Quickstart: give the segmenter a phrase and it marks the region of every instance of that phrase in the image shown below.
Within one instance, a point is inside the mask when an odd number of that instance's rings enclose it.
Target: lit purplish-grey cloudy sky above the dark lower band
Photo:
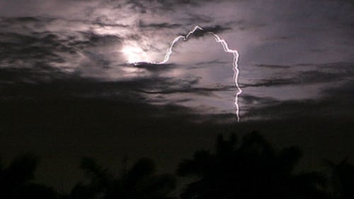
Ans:
[[[212,37],[178,43],[169,66],[127,64],[161,61],[174,37],[200,25],[241,54],[239,103],[247,115],[258,106],[318,100],[353,81],[353,15],[350,1],[0,1],[0,66],[62,73],[8,77],[9,84],[78,74],[130,83],[86,95],[126,93],[147,103],[231,113],[232,56]]]

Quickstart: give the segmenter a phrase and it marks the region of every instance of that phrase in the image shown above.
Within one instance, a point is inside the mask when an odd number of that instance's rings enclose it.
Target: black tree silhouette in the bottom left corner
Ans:
[[[38,159],[34,155],[21,155],[8,167],[0,162],[0,198],[56,198],[53,188],[33,183]]]

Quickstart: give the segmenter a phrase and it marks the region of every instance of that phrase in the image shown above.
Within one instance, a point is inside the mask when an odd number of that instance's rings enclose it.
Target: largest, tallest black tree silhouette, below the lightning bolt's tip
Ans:
[[[295,174],[297,147],[276,151],[256,132],[217,138],[215,152],[195,152],[178,166],[181,176],[197,176],[181,198],[326,198],[324,178],[314,172]]]

